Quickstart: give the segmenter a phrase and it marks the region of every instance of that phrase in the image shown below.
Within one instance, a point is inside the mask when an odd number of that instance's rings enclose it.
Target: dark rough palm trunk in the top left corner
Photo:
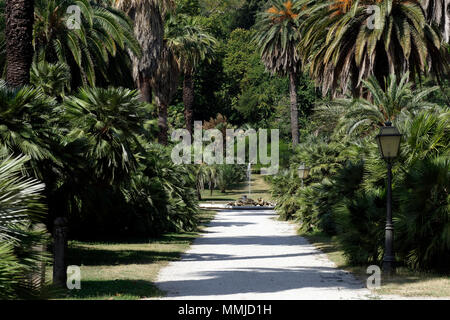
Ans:
[[[11,87],[30,82],[33,23],[34,0],[6,1],[6,82]]]

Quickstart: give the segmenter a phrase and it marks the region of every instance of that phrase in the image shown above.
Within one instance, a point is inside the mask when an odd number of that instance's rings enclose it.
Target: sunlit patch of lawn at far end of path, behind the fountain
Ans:
[[[264,181],[264,176],[260,174],[252,174],[250,187],[250,198],[254,200],[258,198],[263,198],[264,200],[272,199],[269,191],[270,186],[266,181]],[[213,194],[211,195],[209,190],[203,190],[202,201],[230,202],[241,198],[243,195],[248,196],[248,182],[237,184],[225,193],[220,192],[220,190],[213,190]]]

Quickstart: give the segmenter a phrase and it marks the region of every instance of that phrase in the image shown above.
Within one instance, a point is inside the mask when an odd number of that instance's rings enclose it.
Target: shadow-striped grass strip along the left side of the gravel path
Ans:
[[[202,225],[209,222],[214,211],[202,210]],[[197,232],[168,233],[158,239],[128,242],[72,241],[68,249],[68,265],[81,266],[81,289],[57,292],[56,299],[141,299],[160,297],[154,284],[159,270],[178,260]],[[51,278],[51,268],[48,268]]]

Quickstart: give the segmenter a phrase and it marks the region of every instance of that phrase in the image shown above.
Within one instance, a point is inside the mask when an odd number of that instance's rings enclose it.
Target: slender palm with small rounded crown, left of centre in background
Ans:
[[[202,61],[211,62],[216,39],[208,34],[196,17],[183,14],[170,17],[165,24],[167,46],[174,53],[184,74],[183,104],[186,129],[193,131],[193,104],[195,68]]]

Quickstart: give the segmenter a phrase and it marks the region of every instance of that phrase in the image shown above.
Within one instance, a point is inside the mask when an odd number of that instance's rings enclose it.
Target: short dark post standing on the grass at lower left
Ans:
[[[53,229],[53,283],[60,287],[65,287],[67,282],[66,247],[67,219],[58,217]]]

